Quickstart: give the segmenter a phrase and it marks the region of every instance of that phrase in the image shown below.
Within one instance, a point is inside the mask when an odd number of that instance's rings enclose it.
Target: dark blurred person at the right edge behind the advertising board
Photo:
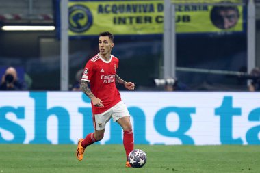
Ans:
[[[250,84],[248,85],[248,90],[250,92],[260,91],[260,68],[255,67],[250,72]]]

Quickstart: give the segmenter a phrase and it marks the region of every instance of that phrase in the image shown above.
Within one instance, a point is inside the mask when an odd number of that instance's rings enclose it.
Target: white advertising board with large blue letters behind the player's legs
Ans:
[[[252,92],[121,92],[135,144],[260,144],[260,94]],[[0,144],[77,144],[93,131],[82,92],[0,92]],[[98,144],[121,144],[108,122]]]

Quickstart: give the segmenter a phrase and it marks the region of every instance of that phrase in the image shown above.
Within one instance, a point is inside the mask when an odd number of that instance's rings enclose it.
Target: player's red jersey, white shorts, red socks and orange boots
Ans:
[[[124,116],[130,116],[125,104],[121,103],[120,105],[119,103],[121,101],[121,96],[118,92],[118,89],[116,88],[115,79],[117,68],[118,59],[113,55],[110,55],[109,61],[105,61],[105,59],[102,59],[102,57],[99,54],[97,54],[87,62],[81,80],[88,81],[90,83],[91,92],[94,94],[94,96],[96,96],[96,98],[101,99],[104,105],[104,107],[96,107],[91,102],[92,114],[101,114],[107,111],[108,109],[112,108],[113,106],[117,105],[118,103],[118,107],[115,107],[118,116],[120,116],[120,118]],[[116,114],[112,114],[114,113],[109,112],[106,116],[110,116],[112,118],[114,116],[114,118],[116,118]],[[101,125],[101,127],[105,128],[104,125],[106,124],[106,122],[103,121],[105,119],[102,119],[102,117],[99,118],[99,116],[106,118],[106,116],[103,114],[92,116],[95,130],[96,126],[99,127],[99,124]],[[98,119],[97,122],[96,119]],[[82,151],[82,149],[86,148],[87,146],[93,144],[96,141],[98,140],[96,140],[94,133],[89,133],[85,137],[85,139],[79,139],[78,148],[76,151],[77,158],[79,160],[82,160],[84,152],[84,150]],[[125,148],[126,157],[128,157],[129,153],[133,150],[132,129],[123,130],[123,144]],[[79,152],[80,150],[81,152]],[[79,155],[81,155],[81,157],[79,157]],[[126,163],[126,166],[129,167],[129,162]]]

